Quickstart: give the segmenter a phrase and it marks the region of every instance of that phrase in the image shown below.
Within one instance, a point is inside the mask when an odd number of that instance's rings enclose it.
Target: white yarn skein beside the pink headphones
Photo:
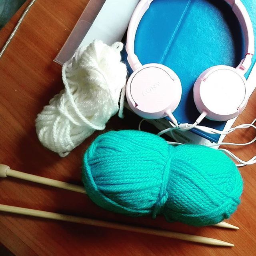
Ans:
[[[64,64],[65,89],[36,118],[36,132],[46,148],[65,157],[95,130],[104,130],[118,112],[127,76],[122,48],[121,42],[107,46],[95,40]]]

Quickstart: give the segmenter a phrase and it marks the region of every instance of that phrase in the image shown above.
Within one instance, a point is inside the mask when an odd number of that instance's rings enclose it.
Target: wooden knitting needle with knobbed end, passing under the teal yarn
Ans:
[[[28,180],[31,182],[35,182],[35,183],[39,183],[47,186],[52,186],[55,188],[62,188],[65,190],[86,194],[86,191],[82,186],[73,185],[73,184],[62,182],[59,180],[52,180],[49,178],[44,178],[44,177],[36,176],[33,174],[19,172],[16,170],[11,170],[9,166],[0,164],[0,178],[6,178],[7,176],[22,179],[22,180]],[[216,224],[214,226],[220,227],[220,228],[239,229],[238,227],[226,222],[220,222],[219,224]]]

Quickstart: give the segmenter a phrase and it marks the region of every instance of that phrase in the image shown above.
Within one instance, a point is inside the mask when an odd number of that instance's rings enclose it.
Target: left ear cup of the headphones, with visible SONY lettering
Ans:
[[[174,112],[180,103],[179,77],[162,64],[146,64],[128,79],[126,98],[132,110],[147,119],[160,119]]]

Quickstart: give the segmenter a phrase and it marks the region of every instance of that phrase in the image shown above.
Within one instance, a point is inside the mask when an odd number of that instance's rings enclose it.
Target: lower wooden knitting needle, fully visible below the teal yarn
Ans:
[[[151,228],[128,226],[128,225],[124,225],[124,224],[118,224],[118,223],[107,222],[107,221],[102,221],[102,220],[82,218],[82,217],[58,214],[58,213],[54,213],[54,212],[44,212],[44,211],[39,211],[39,210],[20,208],[20,207],[16,207],[16,206],[8,206],[8,205],[4,205],[4,204],[0,204],[0,212],[21,214],[21,215],[46,218],[46,219],[51,219],[51,220],[74,222],[74,223],[85,224],[85,225],[90,225],[90,226],[138,232],[138,233],[150,234],[150,235],[155,235],[155,236],[164,236],[164,237],[168,237],[168,238],[174,238],[174,239],[190,241],[190,242],[195,242],[195,243],[200,243],[200,244],[209,244],[209,245],[215,245],[215,246],[234,246],[234,244],[230,244],[228,242],[224,242],[224,241],[217,240],[214,238],[207,238],[207,237],[203,237],[203,236],[194,236],[194,235],[190,235],[190,234],[170,232],[170,231],[166,231],[166,230],[156,230],[156,229],[151,229]]]

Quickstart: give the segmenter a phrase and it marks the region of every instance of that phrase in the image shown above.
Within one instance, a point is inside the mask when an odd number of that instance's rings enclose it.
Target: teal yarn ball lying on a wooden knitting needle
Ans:
[[[84,154],[82,180],[98,206],[129,216],[193,226],[230,218],[240,204],[243,181],[219,150],[171,146],[154,134],[124,130],[96,138]]]

